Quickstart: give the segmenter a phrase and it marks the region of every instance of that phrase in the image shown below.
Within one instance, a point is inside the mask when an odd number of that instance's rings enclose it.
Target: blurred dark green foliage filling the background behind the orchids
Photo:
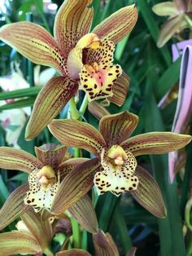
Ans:
[[[1,0],[0,3],[0,26],[3,24],[32,20],[37,24],[43,25],[51,33],[57,7],[63,0]],[[94,22],[93,27],[121,7],[134,3],[132,0],[94,0]],[[124,38],[116,46],[115,63],[120,64],[124,71],[131,78],[129,95],[121,108],[111,104],[107,109],[111,113],[119,113],[122,110],[129,110],[136,113],[139,118],[139,126],[134,134],[142,132],[159,130],[170,131],[176,109],[177,99],[172,99],[163,109],[158,108],[160,99],[176,86],[179,81],[179,71],[181,57],[172,62],[172,43],[178,42],[180,38],[189,39],[189,31],[185,29],[179,36],[172,38],[168,43],[158,48],[156,42],[159,36],[160,26],[167,19],[155,15],[151,8],[161,0],[137,0],[138,20],[133,32],[129,37]],[[32,15],[28,15],[31,12]],[[32,49],[33,51],[33,49]],[[180,53],[181,54],[181,53]],[[33,64],[28,63],[11,47],[1,42],[0,44],[0,76],[11,77],[11,63],[20,64],[20,71],[29,87],[26,89],[12,90],[0,94],[1,102],[8,99],[19,99],[9,101],[9,104],[1,104],[0,110],[17,109],[32,107],[33,102],[43,84],[34,86]],[[41,71],[45,67],[41,67]],[[9,90],[9,88],[7,88]],[[10,103],[11,102],[11,103]],[[63,109],[60,118],[67,117],[68,106]],[[7,110],[8,111],[8,110]],[[8,112],[7,112],[8,117]],[[33,141],[24,140],[24,129],[28,116],[22,124],[17,146],[25,151],[33,152],[34,145],[40,146],[42,143],[53,143],[56,140],[52,138],[50,132],[46,129]],[[89,123],[98,126],[98,120],[90,113],[86,114]],[[19,125],[17,125],[19,126]],[[17,126],[9,127],[13,131]],[[0,126],[0,144],[7,145],[5,126]],[[187,148],[188,158],[190,157],[191,145]],[[164,195],[164,201],[168,210],[168,217],[157,219],[136,201],[129,194],[124,194],[120,198],[106,193],[99,198],[93,193],[95,210],[98,216],[99,227],[104,232],[110,232],[113,236],[120,255],[125,255],[132,247],[137,247],[137,256],[139,255],[164,255],[164,256],[184,256],[185,248],[187,254],[192,255],[190,247],[192,244],[190,230],[185,225],[184,210],[185,204],[190,198],[190,170],[192,162],[187,161],[186,168],[183,166],[181,172],[177,174],[177,179],[172,184],[168,183],[168,157],[163,156],[144,156],[138,157],[140,165],[145,166],[155,175]],[[187,175],[187,176],[186,176]],[[0,206],[6,200],[10,192],[26,181],[26,175],[19,172],[6,172],[2,170],[0,175]],[[188,180],[185,183],[185,180]],[[12,230],[15,223],[6,228],[6,231]],[[89,249],[92,252],[93,245],[89,234],[81,231],[78,225],[72,225],[73,240],[79,248]],[[81,236],[80,236],[81,234]],[[63,236],[55,238],[55,245],[63,239]]]

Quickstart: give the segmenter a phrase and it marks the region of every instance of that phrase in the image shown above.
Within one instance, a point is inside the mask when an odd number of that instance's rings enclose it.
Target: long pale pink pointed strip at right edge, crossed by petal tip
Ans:
[[[172,124],[172,131],[177,133],[186,133],[192,116],[192,87],[191,74],[192,68],[192,46],[186,46],[181,61],[181,73],[179,84],[179,95],[177,101],[177,109]],[[173,181],[178,162],[178,152],[170,152],[168,154],[169,179]]]

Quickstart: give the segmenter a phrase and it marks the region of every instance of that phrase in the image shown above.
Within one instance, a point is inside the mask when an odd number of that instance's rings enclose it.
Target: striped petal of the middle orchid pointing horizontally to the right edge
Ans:
[[[146,154],[164,154],[176,151],[190,143],[190,135],[179,135],[172,132],[149,132],[134,136],[121,143],[125,152],[132,152],[134,156]]]

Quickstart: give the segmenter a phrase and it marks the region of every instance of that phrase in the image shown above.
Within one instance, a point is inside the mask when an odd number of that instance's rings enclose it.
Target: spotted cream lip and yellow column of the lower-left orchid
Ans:
[[[59,172],[50,166],[43,166],[41,170],[33,170],[28,176],[29,191],[24,198],[25,205],[32,205],[35,212],[51,209],[56,192],[59,188]]]

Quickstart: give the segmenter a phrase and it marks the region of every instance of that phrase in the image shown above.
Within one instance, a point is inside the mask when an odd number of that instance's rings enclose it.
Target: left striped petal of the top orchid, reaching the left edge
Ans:
[[[7,24],[0,29],[0,39],[33,63],[66,73],[63,54],[43,27],[28,21]]]

